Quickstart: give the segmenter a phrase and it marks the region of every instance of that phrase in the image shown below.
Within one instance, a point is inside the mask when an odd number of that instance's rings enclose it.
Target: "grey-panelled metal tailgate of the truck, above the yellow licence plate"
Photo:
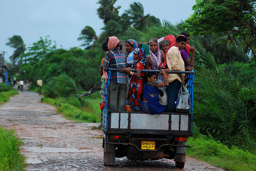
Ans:
[[[108,112],[108,116],[103,125],[107,133],[192,135],[192,115],[189,113]]]

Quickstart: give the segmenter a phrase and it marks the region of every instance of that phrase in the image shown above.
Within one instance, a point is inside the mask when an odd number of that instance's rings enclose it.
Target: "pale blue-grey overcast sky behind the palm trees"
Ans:
[[[49,35],[56,41],[57,48],[79,47],[81,30],[91,26],[99,35],[103,20],[97,15],[98,0],[0,0],[0,53],[6,51],[5,59],[13,54],[14,48],[6,46],[8,38],[22,37],[26,47]],[[195,0],[117,0],[114,6],[121,6],[119,16],[133,2],[140,2],[144,15],[150,14],[173,24],[193,14]],[[132,37],[131,37],[132,38]],[[9,61],[9,59],[7,59]]]

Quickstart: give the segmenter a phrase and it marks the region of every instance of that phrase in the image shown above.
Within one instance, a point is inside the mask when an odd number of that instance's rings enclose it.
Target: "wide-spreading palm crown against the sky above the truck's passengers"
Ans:
[[[126,10],[127,14],[131,17],[133,27],[142,30],[148,26],[156,26],[160,24],[160,20],[150,14],[144,16],[144,8],[140,2],[130,4],[130,9]]]

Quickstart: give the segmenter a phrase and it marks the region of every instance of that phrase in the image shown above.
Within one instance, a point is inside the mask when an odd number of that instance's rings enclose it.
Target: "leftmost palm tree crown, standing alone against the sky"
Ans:
[[[26,50],[26,45],[24,44],[20,36],[14,35],[11,38],[8,38],[9,42],[6,45],[15,48],[14,54],[10,56],[11,62],[14,64],[17,60],[22,61],[23,54]]]

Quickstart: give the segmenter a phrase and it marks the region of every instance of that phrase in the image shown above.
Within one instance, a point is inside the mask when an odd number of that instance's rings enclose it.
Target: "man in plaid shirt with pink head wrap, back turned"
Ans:
[[[117,37],[112,36],[108,39],[108,50],[103,62],[104,71],[108,72],[108,68],[124,68],[126,67],[126,54],[119,50],[120,41]],[[109,88],[109,110],[125,111],[126,108],[126,84],[127,73],[111,71],[111,79]]]

